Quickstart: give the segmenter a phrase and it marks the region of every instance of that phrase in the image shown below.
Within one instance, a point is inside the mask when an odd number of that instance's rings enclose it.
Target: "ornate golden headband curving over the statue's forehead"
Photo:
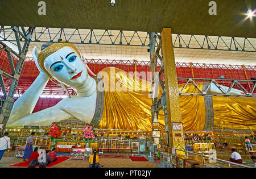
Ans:
[[[58,51],[59,49],[63,48],[63,47],[71,47],[72,49],[74,49],[76,51],[76,53],[80,56],[81,55],[79,53],[79,51],[77,50],[77,48],[75,47],[75,45],[70,44],[70,43],[53,43],[51,45],[49,45],[48,47],[44,48],[39,54],[38,54],[38,64],[39,66],[44,70],[44,72],[46,72],[48,74],[49,77],[52,77],[51,74],[49,74],[46,70],[46,68],[44,67],[44,60],[46,60],[46,58],[51,55],[52,53]]]

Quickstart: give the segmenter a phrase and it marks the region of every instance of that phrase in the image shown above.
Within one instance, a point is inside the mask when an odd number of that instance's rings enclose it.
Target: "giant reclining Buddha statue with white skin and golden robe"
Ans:
[[[44,44],[40,53],[35,47],[32,54],[39,76],[14,103],[7,124],[48,126],[61,120],[79,119],[97,128],[151,130],[150,82],[130,77],[118,68],[105,68],[96,76],[75,45],[69,43]],[[74,89],[77,95],[32,113],[50,79]],[[205,84],[197,85],[204,87]],[[133,90],[135,88],[139,90]],[[195,90],[193,85],[184,89],[189,93]],[[220,93],[216,86],[210,86],[209,90]],[[230,91],[233,94],[241,92]],[[256,127],[255,98],[180,96],[180,106],[185,130],[204,130],[223,123],[234,128]],[[164,130],[163,113],[159,113],[158,120],[160,129]]]

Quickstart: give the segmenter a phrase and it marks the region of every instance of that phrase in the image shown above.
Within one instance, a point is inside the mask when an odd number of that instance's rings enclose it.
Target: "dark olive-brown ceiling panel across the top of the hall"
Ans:
[[[61,0],[46,2],[46,15],[38,14],[35,0],[0,0],[0,25],[111,29],[174,34],[256,38],[255,23],[246,18],[255,0],[215,0],[217,15],[209,15],[210,0]],[[255,17],[254,17],[255,20]]]

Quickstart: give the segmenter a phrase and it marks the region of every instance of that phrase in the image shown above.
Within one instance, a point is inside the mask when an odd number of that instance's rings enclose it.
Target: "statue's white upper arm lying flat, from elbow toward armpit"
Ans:
[[[71,118],[73,118],[72,115],[69,115],[55,105],[42,111],[24,116],[23,118],[16,120],[12,125],[50,125],[52,122]]]

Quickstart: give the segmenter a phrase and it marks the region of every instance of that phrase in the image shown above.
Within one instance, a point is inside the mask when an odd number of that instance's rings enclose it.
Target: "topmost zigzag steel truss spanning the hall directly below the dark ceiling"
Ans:
[[[25,30],[22,29],[22,31]],[[24,41],[25,38],[22,32],[19,30],[17,30],[17,32],[19,34],[20,41]],[[150,34],[151,32],[138,33],[138,31],[122,30],[82,30],[37,27],[31,41],[42,43],[60,43],[61,40],[64,40],[65,43],[73,44],[130,45],[150,47],[151,43],[148,41]],[[182,34],[172,34],[172,38],[175,39],[173,43],[174,48],[256,52],[256,39]],[[15,41],[12,29],[2,26],[0,29],[0,40],[1,39],[10,42]],[[159,39],[156,39],[156,46],[158,45]]]

